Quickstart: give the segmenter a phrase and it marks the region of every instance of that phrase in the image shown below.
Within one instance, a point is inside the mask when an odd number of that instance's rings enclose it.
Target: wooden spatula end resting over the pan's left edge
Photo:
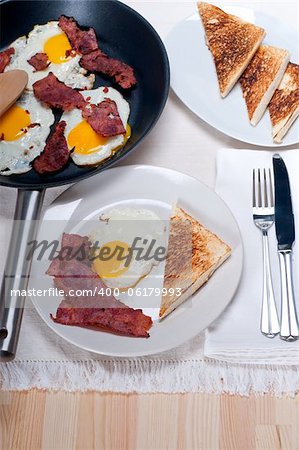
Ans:
[[[28,83],[25,70],[10,70],[0,73],[0,117],[13,105]]]

